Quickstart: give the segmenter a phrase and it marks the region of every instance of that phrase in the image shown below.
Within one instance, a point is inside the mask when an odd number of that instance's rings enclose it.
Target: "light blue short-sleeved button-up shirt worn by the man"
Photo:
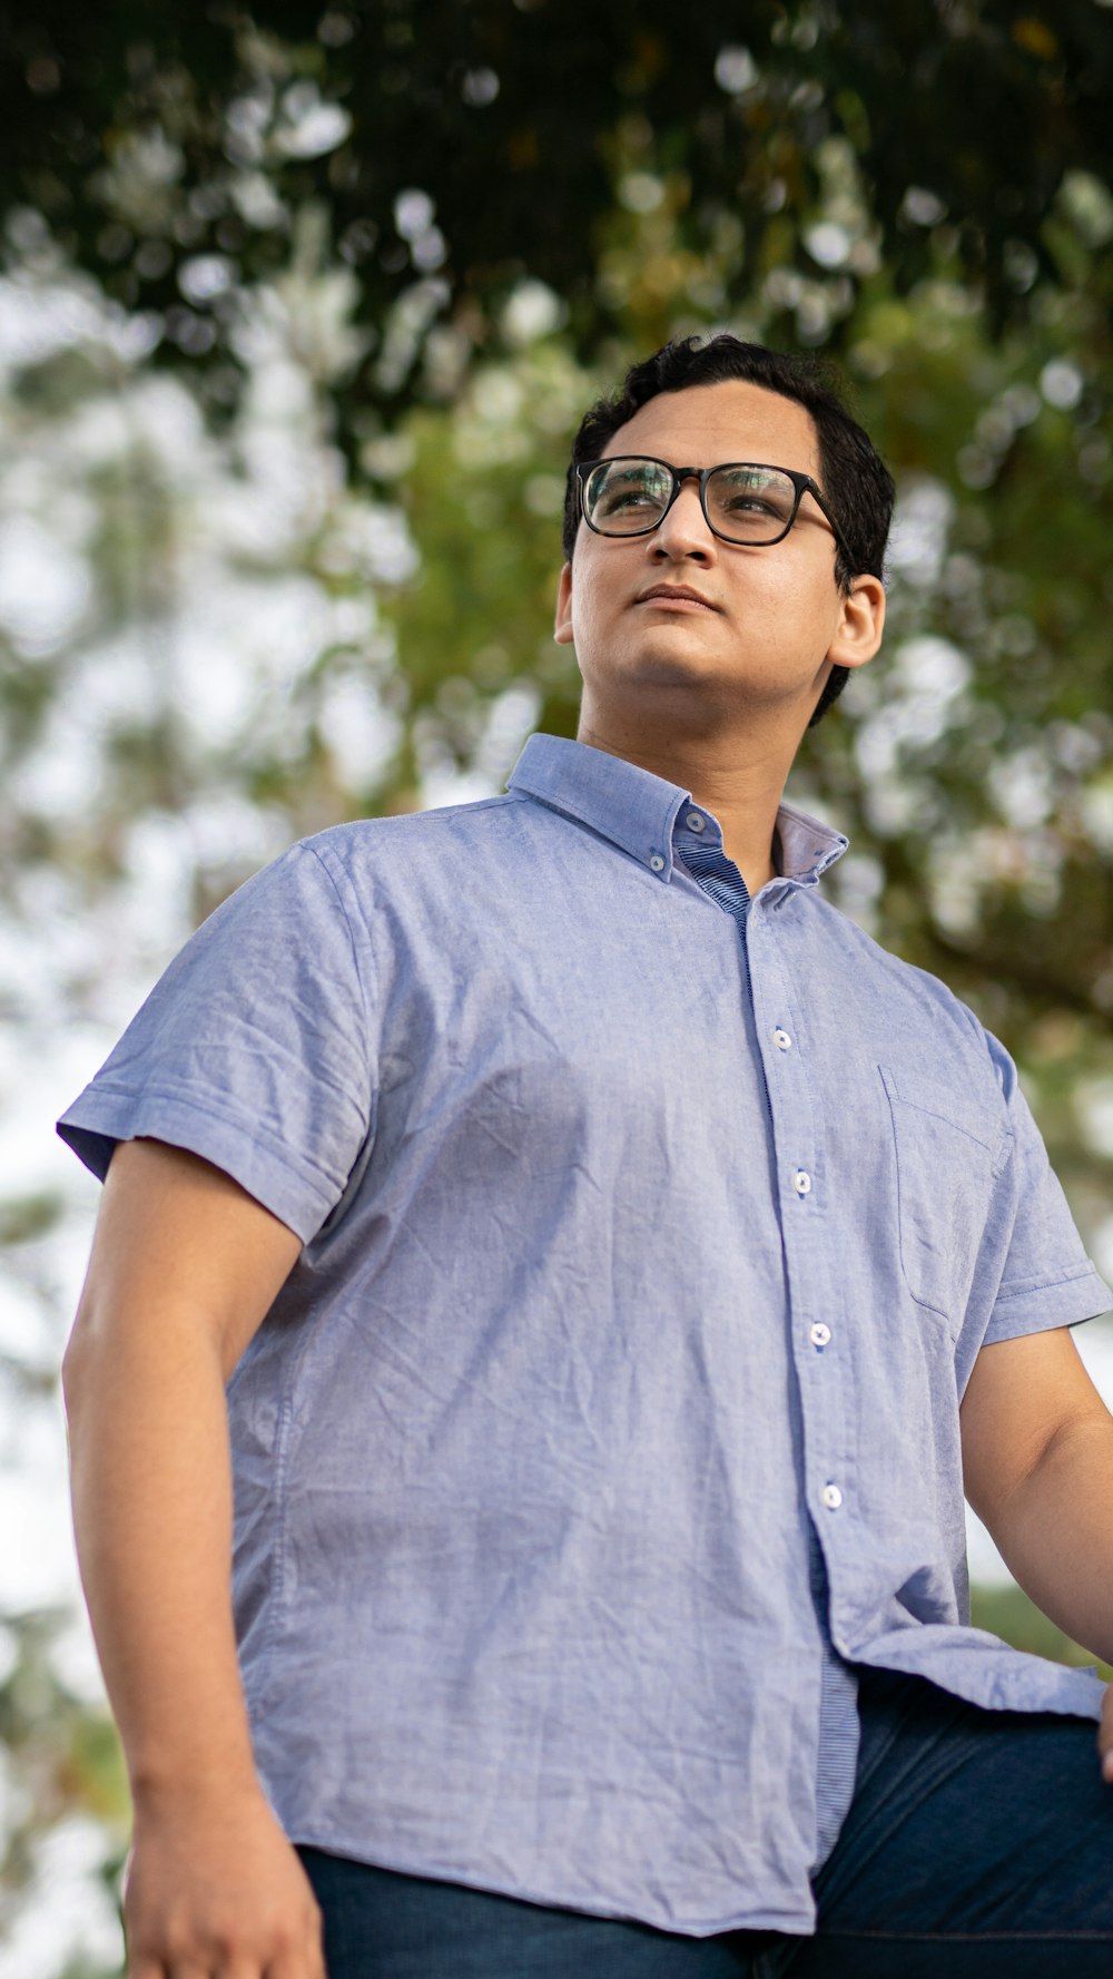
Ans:
[[[192,1148],[304,1241],[229,1385],[289,1835],[809,1932],[832,1652],[1097,1712],[967,1627],[959,1399],[1109,1298],[1006,1053],[822,900],[844,839],[781,809],[741,944],[682,811],[536,736],[504,798],[295,847],[61,1132]]]

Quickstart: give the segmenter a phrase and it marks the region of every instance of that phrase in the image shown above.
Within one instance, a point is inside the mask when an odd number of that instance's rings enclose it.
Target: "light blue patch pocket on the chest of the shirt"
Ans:
[[[878,1071],[892,1114],[905,1284],[957,1334],[1012,1134],[992,1104],[979,1106],[961,1086]]]

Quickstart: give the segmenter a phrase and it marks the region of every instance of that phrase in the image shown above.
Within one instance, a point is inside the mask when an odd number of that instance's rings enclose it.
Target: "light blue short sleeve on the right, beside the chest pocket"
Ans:
[[[994,1037],[988,1045],[1012,1132],[1012,1227],[986,1342],[1073,1326],[1113,1306],[1113,1292],[1085,1255],[1016,1067]]]

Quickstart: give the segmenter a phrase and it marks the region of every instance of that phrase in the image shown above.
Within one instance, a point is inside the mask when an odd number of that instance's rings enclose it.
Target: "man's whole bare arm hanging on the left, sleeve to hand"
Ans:
[[[299,1239],[160,1142],[113,1156],[63,1364],[81,1577],[134,1799],[128,1973],[324,1979],[255,1775],[231,1623],[223,1383]]]

